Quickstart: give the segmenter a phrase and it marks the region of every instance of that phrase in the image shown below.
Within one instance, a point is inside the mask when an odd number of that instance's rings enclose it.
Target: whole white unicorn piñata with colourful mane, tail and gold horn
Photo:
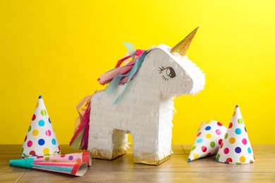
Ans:
[[[93,158],[114,159],[126,153],[133,137],[135,163],[159,165],[170,158],[173,96],[197,94],[204,73],[185,56],[197,29],[172,49],[161,44],[146,51],[126,44],[130,55],[99,77],[109,84],[80,102],[86,108],[76,122],[70,145]],[[133,60],[121,66],[128,61]]]

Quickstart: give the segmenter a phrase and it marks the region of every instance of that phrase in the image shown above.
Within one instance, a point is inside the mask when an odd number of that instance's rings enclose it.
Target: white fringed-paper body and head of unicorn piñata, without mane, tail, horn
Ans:
[[[87,150],[94,158],[126,153],[128,133],[135,163],[158,165],[170,157],[173,96],[197,94],[205,84],[195,63],[170,51],[163,44],[151,49],[117,105],[113,102],[124,85],[111,95],[104,91],[92,95]]]

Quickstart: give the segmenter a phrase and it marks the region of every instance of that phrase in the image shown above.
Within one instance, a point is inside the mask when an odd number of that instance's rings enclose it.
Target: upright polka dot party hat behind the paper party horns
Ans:
[[[21,153],[23,158],[41,158],[61,153],[42,96],[37,101]]]

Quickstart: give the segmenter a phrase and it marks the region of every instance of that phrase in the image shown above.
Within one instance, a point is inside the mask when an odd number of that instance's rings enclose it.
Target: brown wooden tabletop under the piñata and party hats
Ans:
[[[0,182],[275,182],[275,145],[254,145],[256,162],[227,165],[215,156],[187,162],[190,145],[173,145],[173,155],[165,163],[133,163],[133,151],[114,160],[92,160],[82,177],[54,172],[10,167],[8,160],[20,158],[20,145],[0,145]],[[73,153],[67,145],[62,153]]]

